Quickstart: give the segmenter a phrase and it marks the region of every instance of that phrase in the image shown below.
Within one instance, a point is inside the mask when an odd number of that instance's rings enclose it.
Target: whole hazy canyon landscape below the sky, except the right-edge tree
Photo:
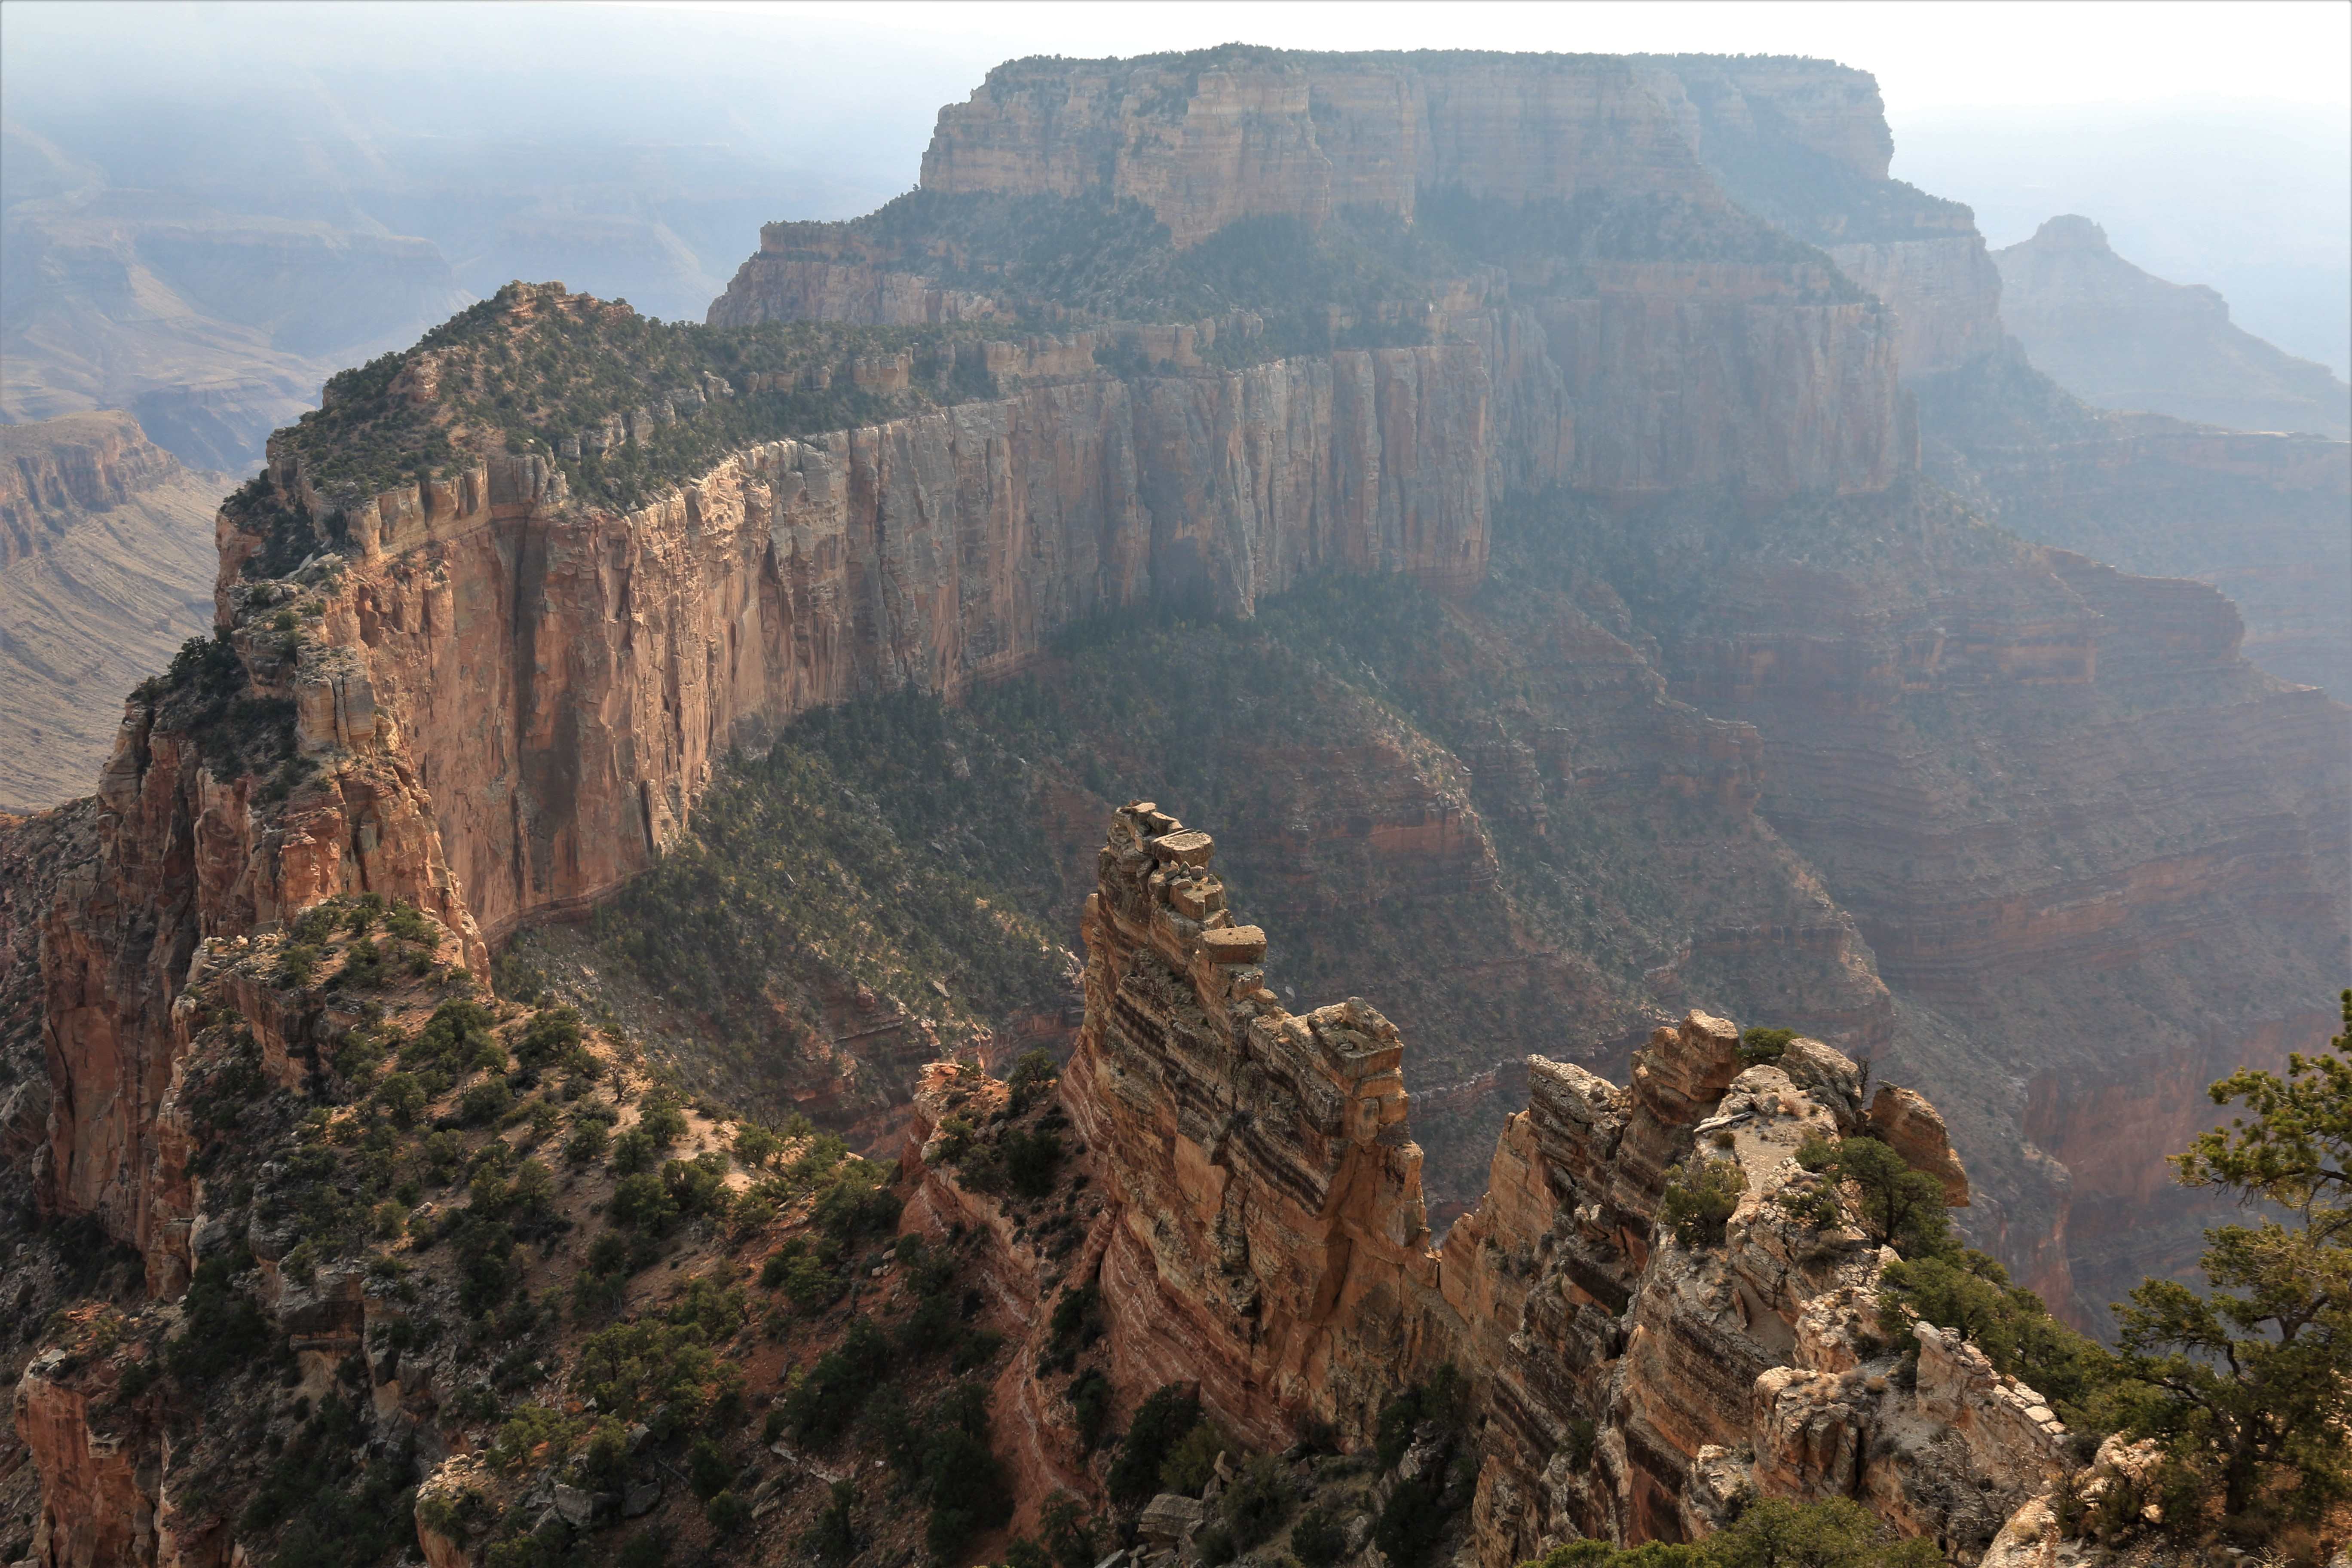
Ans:
[[[2343,1027],[2328,367],[1792,54],[320,125],[7,132],[0,1561],[2336,1540],[2129,1359]]]

